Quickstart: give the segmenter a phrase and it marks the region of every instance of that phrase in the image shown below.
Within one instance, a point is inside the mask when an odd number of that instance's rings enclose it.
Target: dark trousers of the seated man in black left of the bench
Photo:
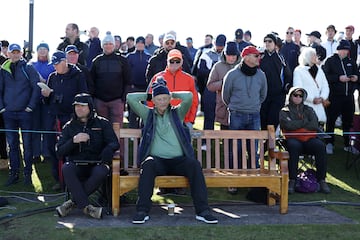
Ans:
[[[83,209],[90,204],[88,196],[104,183],[109,167],[105,164],[83,166],[66,162],[62,166],[62,173],[72,201],[79,209]]]

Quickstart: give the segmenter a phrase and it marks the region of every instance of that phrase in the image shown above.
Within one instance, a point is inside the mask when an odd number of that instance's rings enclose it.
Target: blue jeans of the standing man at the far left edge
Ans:
[[[5,111],[3,113],[5,122],[6,138],[9,144],[10,157],[10,174],[19,173],[20,171],[20,136],[19,129],[21,129],[21,137],[24,149],[24,174],[31,175],[32,172],[32,113],[19,111]],[[23,131],[25,130],[25,131]]]

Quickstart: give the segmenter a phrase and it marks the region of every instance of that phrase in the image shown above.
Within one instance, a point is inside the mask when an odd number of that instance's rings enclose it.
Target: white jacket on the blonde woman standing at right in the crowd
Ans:
[[[293,86],[304,88],[307,91],[308,96],[304,103],[314,109],[319,122],[326,122],[324,106],[321,103],[314,104],[313,100],[317,97],[327,99],[329,97],[329,84],[321,67],[318,66],[315,79],[311,76],[309,68],[309,66],[297,66],[295,68]]]

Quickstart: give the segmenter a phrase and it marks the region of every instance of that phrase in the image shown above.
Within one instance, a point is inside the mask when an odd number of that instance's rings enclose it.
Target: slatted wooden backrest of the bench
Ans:
[[[124,142],[124,153],[122,168],[137,168],[136,156],[139,148],[141,130],[140,129],[120,129],[120,139]],[[237,141],[241,140],[241,141]],[[268,164],[265,165],[265,144],[267,149],[275,148],[275,130],[269,126],[268,130],[194,130],[192,131],[192,141],[195,157],[201,163],[203,169],[229,169],[230,152],[238,152],[238,142],[242,149],[241,154],[232,154],[233,168],[255,169],[256,161],[259,159],[261,169],[276,169],[276,159],[268,156]],[[202,150],[203,141],[206,142],[206,150]],[[258,146],[255,154],[255,145]],[[250,153],[250,154],[248,154]],[[239,160],[239,161],[238,161]]]

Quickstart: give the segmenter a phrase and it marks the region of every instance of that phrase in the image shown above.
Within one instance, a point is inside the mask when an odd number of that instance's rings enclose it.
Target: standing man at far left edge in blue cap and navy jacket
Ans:
[[[0,113],[3,114],[7,142],[9,144],[10,171],[5,186],[19,181],[20,136],[24,149],[24,184],[32,185],[32,112],[40,99],[37,83],[39,74],[32,65],[22,58],[19,44],[10,44],[9,59],[1,66],[0,72]]]

